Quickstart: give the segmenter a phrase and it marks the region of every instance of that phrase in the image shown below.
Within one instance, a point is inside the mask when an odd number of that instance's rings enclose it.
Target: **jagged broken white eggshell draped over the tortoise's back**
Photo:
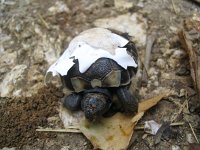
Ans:
[[[115,60],[120,66],[137,67],[137,62],[121,48],[128,40],[104,28],[92,28],[75,37],[63,55],[48,69],[47,73],[67,75],[74,65],[73,60],[78,59],[79,70],[85,72],[97,59],[105,57]]]

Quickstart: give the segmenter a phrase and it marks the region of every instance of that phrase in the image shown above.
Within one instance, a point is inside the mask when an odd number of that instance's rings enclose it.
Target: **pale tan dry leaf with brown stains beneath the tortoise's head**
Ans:
[[[83,120],[80,130],[91,141],[95,149],[125,149],[133,133],[134,124],[131,119],[131,117],[117,113],[97,123]]]

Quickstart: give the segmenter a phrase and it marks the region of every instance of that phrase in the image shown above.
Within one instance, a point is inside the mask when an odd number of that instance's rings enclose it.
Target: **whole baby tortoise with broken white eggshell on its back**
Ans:
[[[56,71],[63,85],[72,91],[64,98],[67,109],[84,111],[90,121],[117,111],[137,111],[138,101],[129,92],[137,72],[133,42],[107,29],[93,28],[75,37],[66,51],[48,72]],[[70,67],[65,67],[67,59],[73,62]],[[114,95],[118,101],[113,100]]]

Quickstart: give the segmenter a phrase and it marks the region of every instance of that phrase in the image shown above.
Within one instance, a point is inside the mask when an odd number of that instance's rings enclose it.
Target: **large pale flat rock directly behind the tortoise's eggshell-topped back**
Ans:
[[[97,27],[110,28],[134,37],[140,46],[146,44],[147,20],[140,14],[124,14],[118,17],[98,19],[94,22]]]

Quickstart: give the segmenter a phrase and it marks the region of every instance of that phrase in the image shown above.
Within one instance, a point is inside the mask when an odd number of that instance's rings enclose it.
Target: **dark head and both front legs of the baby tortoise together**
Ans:
[[[64,106],[72,111],[82,109],[90,121],[95,121],[100,116],[112,116],[118,111],[126,114],[137,112],[138,101],[130,94],[128,86],[109,88],[109,90],[94,88],[81,93],[72,93],[64,98]],[[112,94],[117,95],[120,108],[116,108],[116,104],[112,102]]]

